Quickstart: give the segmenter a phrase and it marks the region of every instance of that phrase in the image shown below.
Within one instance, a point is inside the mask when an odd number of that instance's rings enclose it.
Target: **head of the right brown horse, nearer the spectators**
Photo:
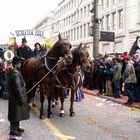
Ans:
[[[85,70],[89,71],[91,68],[91,62],[89,59],[89,53],[86,50],[86,45],[82,46],[82,43],[75,49],[73,57],[79,61],[79,64],[84,67]]]

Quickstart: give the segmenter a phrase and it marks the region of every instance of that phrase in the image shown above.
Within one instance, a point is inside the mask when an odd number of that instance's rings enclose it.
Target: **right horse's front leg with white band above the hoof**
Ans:
[[[61,108],[60,108],[60,117],[64,117],[65,116],[65,111],[64,111],[64,89],[61,88],[60,89],[60,101],[61,101]]]

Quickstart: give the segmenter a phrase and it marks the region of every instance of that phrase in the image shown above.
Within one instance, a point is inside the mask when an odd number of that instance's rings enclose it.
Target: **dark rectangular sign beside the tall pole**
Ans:
[[[100,31],[100,41],[115,41],[115,33],[114,32],[107,32],[107,31]]]

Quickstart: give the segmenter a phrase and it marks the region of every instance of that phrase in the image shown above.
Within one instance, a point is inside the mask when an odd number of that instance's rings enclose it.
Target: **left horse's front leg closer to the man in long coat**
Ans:
[[[40,107],[40,119],[44,119],[45,118],[45,114],[44,114],[44,108],[43,108],[43,104],[44,104],[44,88],[42,86],[40,86],[40,103],[41,103],[41,107]]]

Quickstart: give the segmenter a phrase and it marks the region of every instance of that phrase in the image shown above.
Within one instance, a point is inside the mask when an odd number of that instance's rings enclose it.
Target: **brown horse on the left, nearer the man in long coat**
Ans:
[[[42,58],[29,58],[23,63],[23,77],[25,79],[27,90],[29,90],[33,83],[37,83],[42,77],[44,77],[48,72],[49,75],[45,77],[40,83],[40,102],[41,102],[41,108],[40,108],[40,118],[44,118],[44,109],[43,109],[43,103],[44,103],[44,94],[47,91],[48,96],[48,117],[51,115],[51,107],[49,106],[54,93],[54,87],[55,87],[55,74],[54,70],[52,68],[58,63],[58,60],[60,57],[62,57],[66,64],[69,64],[72,62],[73,56],[71,53],[71,44],[65,40],[62,39],[61,35],[59,34],[58,41],[53,45],[53,47],[49,50],[47,55],[45,55]],[[32,91],[33,94],[35,94],[35,89]],[[32,97],[32,93],[30,92],[28,95],[29,100]],[[34,96],[34,95],[33,95]]]

